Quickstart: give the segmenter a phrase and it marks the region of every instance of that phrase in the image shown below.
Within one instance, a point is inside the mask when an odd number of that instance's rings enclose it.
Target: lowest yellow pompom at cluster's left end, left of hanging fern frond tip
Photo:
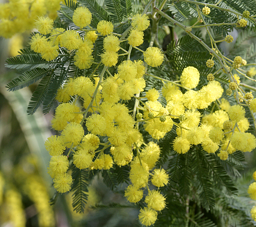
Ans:
[[[71,189],[72,176],[68,173],[59,174],[53,179],[53,187],[60,193],[65,193]]]

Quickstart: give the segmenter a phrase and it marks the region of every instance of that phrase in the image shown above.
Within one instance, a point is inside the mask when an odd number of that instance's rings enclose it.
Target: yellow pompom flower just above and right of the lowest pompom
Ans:
[[[145,203],[148,207],[161,211],[165,208],[165,197],[160,194],[159,191],[152,190],[148,192],[148,195],[145,197]]]

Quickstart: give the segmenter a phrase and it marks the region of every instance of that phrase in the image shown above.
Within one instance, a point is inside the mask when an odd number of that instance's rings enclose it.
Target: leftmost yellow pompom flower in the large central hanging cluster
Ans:
[[[61,137],[59,136],[50,136],[45,142],[45,147],[51,156],[62,155],[66,149]]]

